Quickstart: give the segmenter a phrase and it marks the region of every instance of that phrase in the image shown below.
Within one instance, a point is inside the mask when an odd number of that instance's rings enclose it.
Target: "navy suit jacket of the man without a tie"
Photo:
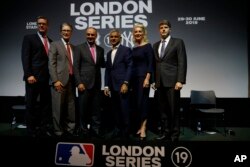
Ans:
[[[105,70],[105,86],[119,91],[124,81],[130,81],[132,72],[131,49],[120,45],[112,64],[111,51],[107,53],[107,62]]]

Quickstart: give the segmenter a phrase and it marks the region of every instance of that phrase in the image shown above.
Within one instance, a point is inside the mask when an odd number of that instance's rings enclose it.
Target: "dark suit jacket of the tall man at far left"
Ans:
[[[48,38],[49,42],[52,42]],[[27,81],[30,76],[35,76],[38,81],[48,81],[48,55],[38,34],[26,35],[22,43],[22,64],[24,76]]]

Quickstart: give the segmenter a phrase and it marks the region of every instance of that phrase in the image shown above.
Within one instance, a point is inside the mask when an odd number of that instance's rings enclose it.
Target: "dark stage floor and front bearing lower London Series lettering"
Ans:
[[[25,128],[0,123],[1,162],[5,166],[77,166],[69,164],[71,149],[75,146],[84,148],[85,152],[79,154],[88,154],[91,163],[87,166],[94,167],[235,166],[245,160],[241,156],[250,156],[250,128],[243,127],[228,127],[226,135],[218,132],[196,135],[192,129],[183,127],[178,142],[156,141],[157,135],[152,131],[147,132],[145,141],[133,135],[128,140],[115,139],[110,133],[104,134],[102,139],[83,136],[34,138],[26,136],[25,131]],[[82,161],[80,166],[86,166],[84,159]],[[247,167],[249,160],[240,165]]]

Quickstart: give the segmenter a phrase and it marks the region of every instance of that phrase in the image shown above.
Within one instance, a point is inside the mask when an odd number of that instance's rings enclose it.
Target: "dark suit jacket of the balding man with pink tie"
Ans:
[[[76,85],[83,83],[87,89],[96,86],[101,89],[101,68],[105,67],[104,49],[96,45],[96,63],[93,61],[87,42],[77,46],[74,62]]]

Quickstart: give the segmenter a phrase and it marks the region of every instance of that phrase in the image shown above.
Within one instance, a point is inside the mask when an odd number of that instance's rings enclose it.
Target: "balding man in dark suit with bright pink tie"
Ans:
[[[105,67],[104,49],[96,44],[97,30],[86,29],[87,41],[78,45],[74,75],[78,88],[79,127],[83,133],[91,128],[92,135],[100,136],[101,124],[101,68]]]

